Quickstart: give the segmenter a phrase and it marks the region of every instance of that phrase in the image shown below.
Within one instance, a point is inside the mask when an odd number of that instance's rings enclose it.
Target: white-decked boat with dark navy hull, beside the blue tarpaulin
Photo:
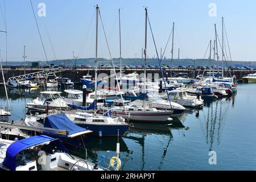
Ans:
[[[76,125],[93,131],[93,135],[104,136],[122,136],[129,129],[130,124],[125,122],[122,117],[110,117],[103,115],[94,115],[90,113],[67,114]]]

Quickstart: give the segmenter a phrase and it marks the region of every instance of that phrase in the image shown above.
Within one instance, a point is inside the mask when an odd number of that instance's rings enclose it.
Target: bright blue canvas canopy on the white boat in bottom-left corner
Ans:
[[[63,152],[68,153],[67,149],[65,148],[64,144],[61,142],[60,139],[54,139],[51,137],[47,137],[45,135],[38,135],[35,137],[18,140],[17,142],[10,144],[10,146],[7,148],[7,151],[6,151],[6,157],[5,157],[5,160],[3,161],[3,166],[8,167],[11,171],[15,171],[16,156],[19,154],[19,152],[27,148],[30,148],[32,146],[36,146],[44,142],[51,142],[53,140]]]

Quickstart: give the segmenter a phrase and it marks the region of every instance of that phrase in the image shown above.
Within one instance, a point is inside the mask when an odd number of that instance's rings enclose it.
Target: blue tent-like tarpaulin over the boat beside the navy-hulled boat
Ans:
[[[77,126],[65,114],[49,115],[48,117],[46,117],[46,119],[44,119],[44,127],[49,127],[51,129],[57,130],[67,130],[68,135],[72,135],[82,131],[88,131],[80,126]],[[68,135],[56,134],[57,137],[68,137]]]

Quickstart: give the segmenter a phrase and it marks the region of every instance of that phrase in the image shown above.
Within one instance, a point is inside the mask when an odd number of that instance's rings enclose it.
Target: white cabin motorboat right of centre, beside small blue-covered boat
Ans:
[[[204,100],[201,99],[201,96],[197,98],[196,96],[189,96],[185,90],[171,90],[168,91],[168,96],[170,101],[176,102],[182,106],[187,107],[199,107],[204,104]],[[160,96],[164,100],[168,100],[167,93]]]

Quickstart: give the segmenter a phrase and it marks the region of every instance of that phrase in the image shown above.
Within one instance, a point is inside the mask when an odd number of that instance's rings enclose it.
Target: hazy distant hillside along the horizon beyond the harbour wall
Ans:
[[[72,59],[67,59],[67,60],[52,60],[48,61],[49,64],[55,64],[55,65],[67,65],[67,66],[72,66],[75,65],[75,62],[77,65],[95,65],[95,59],[94,58],[87,58],[87,59],[77,59],[77,61],[72,60]],[[38,61],[39,65],[47,65],[46,61]],[[119,65],[119,59],[114,59],[114,64]],[[228,66],[237,66],[237,67],[248,67],[251,65],[251,68],[256,68],[256,61],[227,61],[226,62]],[[31,65],[32,62],[26,62],[26,65]],[[111,60],[108,59],[98,59],[98,64],[112,64]],[[143,65],[144,60],[142,59],[122,59],[122,64],[125,65]],[[165,59],[162,60],[162,64],[166,65],[171,65],[171,60],[170,59]],[[174,67],[177,67],[179,65],[187,66],[187,65],[193,65],[194,61],[193,59],[174,59],[173,65]],[[217,65],[217,61],[212,61],[212,64]],[[3,65],[6,65],[5,62],[3,62]],[[12,61],[12,62],[7,62],[7,65],[24,65],[23,62],[20,61]],[[147,59],[147,65],[152,65],[156,66],[158,65],[158,60],[157,59]],[[195,65],[197,66],[204,66],[207,67],[209,66],[209,60],[208,59],[196,59]],[[222,61],[219,61],[219,66],[222,67]],[[227,65],[225,64],[225,67]]]

